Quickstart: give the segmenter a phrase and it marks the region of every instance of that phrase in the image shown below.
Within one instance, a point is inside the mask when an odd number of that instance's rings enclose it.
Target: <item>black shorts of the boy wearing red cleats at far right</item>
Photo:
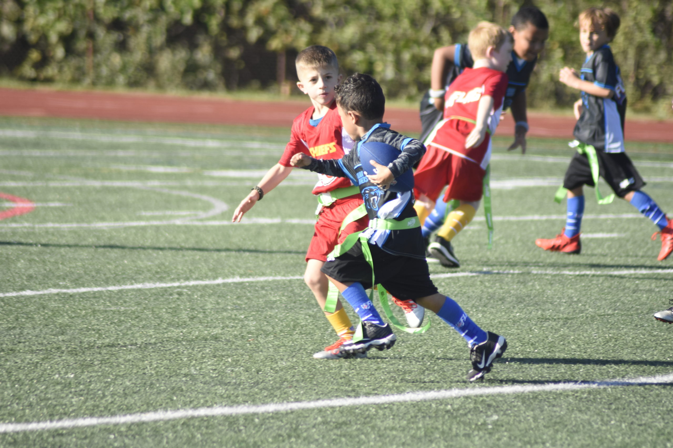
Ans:
[[[596,156],[598,156],[598,174],[619,197],[624,197],[629,191],[636,191],[645,186],[643,178],[640,177],[625,152],[603,152],[597,149]],[[575,152],[565,171],[563,187],[571,190],[582,185],[596,186],[587,156]]]

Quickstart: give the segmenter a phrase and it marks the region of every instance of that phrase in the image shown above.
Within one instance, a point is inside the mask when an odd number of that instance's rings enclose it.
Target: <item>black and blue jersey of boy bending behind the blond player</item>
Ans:
[[[528,62],[519,58],[519,56],[516,55],[516,52],[512,50],[511,62],[509,62],[507,71],[505,72],[507,73],[507,79],[509,81],[507,83],[507,91],[505,92],[503,110],[509,108],[516,95],[526,90],[528,81],[530,81],[530,75],[533,73],[537,60],[538,59],[535,58]],[[456,44],[454,48],[454,64],[446,76],[444,86],[448,87],[464,69],[472,68],[473,65],[474,59],[472,59],[472,53],[468,46],[466,44]],[[442,118],[444,118],[443,112],[435,108],[433,98],[426,92],[421,100],[421,125],[423,128],[421,136],[419,137],[421,142],[425,141],[425,138],[430,134],[432,128],[434,128],[435,124]]]

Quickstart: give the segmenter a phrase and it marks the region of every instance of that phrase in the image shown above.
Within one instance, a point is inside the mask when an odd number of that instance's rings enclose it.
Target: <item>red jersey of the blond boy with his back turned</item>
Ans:
[[[444,121],[434,135],[431,145],[479,165],[488,165],[487,156],[491,136],[495,132],[503,110],[507,92],[507,75],[501,71],[481,67],[465,69],[451,85],[444,97]],[[465,149],[465,138],[474,129],[479,100],[483,95],[493,97],[493,110],[488,119],[488,132],[478,148]],[[483,166],[485,169],[485,166]]]

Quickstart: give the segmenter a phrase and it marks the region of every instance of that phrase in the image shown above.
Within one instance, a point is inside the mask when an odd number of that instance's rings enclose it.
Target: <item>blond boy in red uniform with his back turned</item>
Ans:
[[[500,121],[507,91],[505,70],[511,61],[511,34],[487,21],[470,32],[468,47],[474,58],[451,83],[445,95],[444,120],[426,140],[427,152],[414,175],[416,204],[421,220],[448,185],[444,201],[460,206],[447,217],[429,250],[446,267],[458,267],[451,240],[472,221],[483,194],[483,178],[491,159],[491,137]]]

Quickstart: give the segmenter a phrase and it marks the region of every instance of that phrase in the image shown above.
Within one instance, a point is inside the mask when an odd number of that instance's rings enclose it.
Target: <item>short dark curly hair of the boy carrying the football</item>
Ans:
[[[366,120],[383,118],[386,111],[386,97],[374,77],[355,73],[342,84],[334,87],[336,104],[345,111],[355,111]]]

